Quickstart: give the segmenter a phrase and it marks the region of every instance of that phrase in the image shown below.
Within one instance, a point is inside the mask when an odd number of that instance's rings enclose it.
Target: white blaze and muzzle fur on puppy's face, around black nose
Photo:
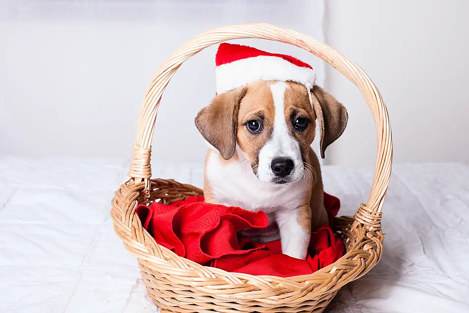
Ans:
[[[259,180],[264,182],[272,182],[275,177],[271,169],[272,160],[275,158],[289,158],[293,161],[294,169],[285,177],[291,182],[298,180],[304,170],[300,145],[286,125],[284,96],[288,88],[289,86],[283,81],[270,85],[274,100],[274,129],[272,138],[259,151],[258,175]]]

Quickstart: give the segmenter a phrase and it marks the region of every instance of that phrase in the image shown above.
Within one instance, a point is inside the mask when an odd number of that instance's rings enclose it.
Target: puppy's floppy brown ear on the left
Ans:
[[[200,134],[225,160],[235,153],[239,103],[247,91],[248,88],[243,87],[219,94],[195,117]]]

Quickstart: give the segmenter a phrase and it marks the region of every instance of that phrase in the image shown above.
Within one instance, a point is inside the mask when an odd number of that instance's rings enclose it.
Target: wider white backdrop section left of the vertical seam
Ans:
[[[323,39],[322,1],[194,2],[2,2],[0,153],[130,157],[154,71],[206,29],[267,22]],[[238,42],[293,54],[310,62],[323,81],[323,62],[306,51]],[[170,82],[156,121],[153,160],[203,160],[206,145],[193,120],[215,95],[215,52],[213,46],[188,60]]]

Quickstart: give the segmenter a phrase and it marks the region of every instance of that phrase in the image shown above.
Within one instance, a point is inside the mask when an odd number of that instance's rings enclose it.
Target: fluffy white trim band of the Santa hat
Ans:
[[[316,74],[312,69],[273,56],[258,56],[223,64],[215,69],[215,75],[218,94],[257,80],[295,81],[310,89],[316,83]]]

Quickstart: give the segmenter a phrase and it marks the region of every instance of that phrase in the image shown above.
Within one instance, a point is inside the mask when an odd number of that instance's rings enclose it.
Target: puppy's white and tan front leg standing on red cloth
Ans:
[[[277,213],[281,251],[291,257],[305,260],[311,238],[311,209],[303,205],[294,210]]]

